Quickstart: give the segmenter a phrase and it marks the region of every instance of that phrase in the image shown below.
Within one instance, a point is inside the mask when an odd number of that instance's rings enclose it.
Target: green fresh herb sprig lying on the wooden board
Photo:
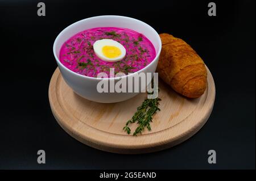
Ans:
[[[149,94],[149,93],[148,93]],[[160,98],[155,99],[145,99],[141,106],[137,108],[137,111],[134,113],[133,117],[127,121],[123,130],[128,134],[131,133],[131,129],[129,127],[130,124],[137,122],[139,125],[137,129],[134,131],[133,136],[137,136],[137,134],[141,134],[146,127],[148,131],[151,131],[150,123],[152,122],[153,115],[160,111],[159,109],[159,101]]]

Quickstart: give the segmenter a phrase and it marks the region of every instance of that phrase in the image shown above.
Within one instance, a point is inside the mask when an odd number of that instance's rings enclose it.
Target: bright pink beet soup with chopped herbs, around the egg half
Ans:
[[[126,49],[126,56],[117,62],[107,62],[96,56],[93,44],[97,40],[112,39]],[[97,77],[110,68],[114,73],[134,73],[150,64],[156,56],[154,45],[141,33],[125,28],[98,27],[84,30],[68,39],[60,49],[60,62],[75,73]]]

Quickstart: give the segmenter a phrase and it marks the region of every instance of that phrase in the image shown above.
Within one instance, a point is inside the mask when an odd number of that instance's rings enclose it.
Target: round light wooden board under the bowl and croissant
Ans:
[[[195,134],[208,120],[215,99],[215,86],[208,70],[208,87],[197,99],[176,94],[159,79],[159,108],[151,131],[138,136],[122,128],[146,98],[141,93],[120,103],[96,103],[81,98],[65,83],[59,69],[49,85],[49,103],[60,126],[82,143],[104,151],[122,154],[148,153],[175,146]],[[137,124],[131,126],[135,130]]]

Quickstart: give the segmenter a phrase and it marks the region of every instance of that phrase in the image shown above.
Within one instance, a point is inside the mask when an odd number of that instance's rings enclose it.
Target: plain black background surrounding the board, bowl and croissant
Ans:
[[[0,1],[0,169],[255,169],[255,1]],[[157,153],[121,155],[81,144],[51,113],[52,46],[65,27],[96,15],[125,15],[189,43],[216,83],[207,124]],[[36,161],[46,151],[46,164]],[[207,161],[217,152],[217,164]]]

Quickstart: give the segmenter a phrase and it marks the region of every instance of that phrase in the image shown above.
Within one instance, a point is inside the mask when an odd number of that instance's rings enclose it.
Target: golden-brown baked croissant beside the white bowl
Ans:
[[[188,98],[198,98],[207,87],[204,61],[185,41],[167,33],[160,34],[162,52],[157,71],[176,92]]]

